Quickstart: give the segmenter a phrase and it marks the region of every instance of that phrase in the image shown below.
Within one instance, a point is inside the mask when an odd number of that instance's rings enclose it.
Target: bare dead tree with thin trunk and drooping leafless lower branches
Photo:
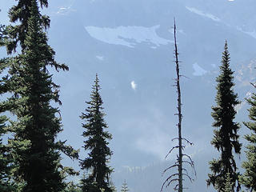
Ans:
[[[176,74],[177,78],[175,78],[175,85],[177,88],[177,94],[178,94],[178,138],[173,138],[172,141],[178,140],[178,145],[173,146],[171,150],[169,151],[168,154],[166,154],[166,158],[168,155],[174,150],[178,149],[178,154],[177,154],[177,160],[174,162],[174,165],[169,166],[166,168],[166,170],[163,171],[163,174],[165,174],[167,171],[172,170],[173,168],[178,168],[178,173],[174,172],[174,174],[170,174],[168,178],[163,182],[161,191],[163,190],[164,186],[170,186],[170,184],[176,183],[174,186],[174,190],[178,190],[178,192],[182,192],[183,189],[186,189],[183,187],[183,181],[184,177],[188,178],[190,182],[194,181],[194,178],[191,178],[190,175],[188,174],[188,171],[186,168],[183,166],[185,164],[188,164],[191,166],[192,170],[194,171],[194,175],[196,176],[196,171],[194,168],[194,161],[192,158],[190,158],[190,155],[185,154],[183,151],[186,147],[183,143],[186,142],[186,144],[193,145],[192,142],[190,142],[186,138],[182,138],[182,94],[181,94],[181,86],[180,86],[180,78],[182,75],[179,73],[179,60],[178,60],[178,47],[177,47],[177,39],[176,39],[176,23],[175,23],[175,18],[174,18],[174,63],[176,64]],[[177,183],[178,182],[178,183]]]

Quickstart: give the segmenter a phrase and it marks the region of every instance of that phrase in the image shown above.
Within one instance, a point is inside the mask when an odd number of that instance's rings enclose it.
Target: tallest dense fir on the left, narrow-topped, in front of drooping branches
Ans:
[[[59,171],[60,154],[56,151],[54,139],[62,130],[58,109],[50,101],[58,100],[58,93],[52,90],[51,76],[46,72],[46,63],[53,62],[53,53],[46,43],[46,35],[39,25],[40,16],[35,1],[30,1],[30,18],[24,42],[23,54],[15,58],[10,74],[18,75],[18,105],[12,110],[18,122],[12,124],[14,141],[30,141],[30,147],[17,151],[17,178],[26,186],[22,191],[62,191],[65,188]],[[15,66],[21,66],[14,69]],[[15,74],[13,74],[15,72]]]

